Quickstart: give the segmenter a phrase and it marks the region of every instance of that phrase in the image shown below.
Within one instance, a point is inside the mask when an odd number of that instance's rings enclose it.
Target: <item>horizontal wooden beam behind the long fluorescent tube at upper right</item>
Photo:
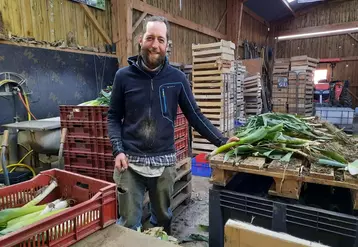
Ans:
[[[297,34],[312,34],[307,37],[288,38],[288,39],[302,39],[302,38],[315,38],[315,37],[333,36],[333,35],[358,32],[358,29],[357,30],[349,30],[352,28],[358,28],[358,21],[336,23],[336,24],[329,24],[329,25],[315,26],[315,27],[305,27],[305,28],[299,28],[299,29],[294,29],[294,30],[289,30],[289,31],[281,31],[281,32],[277,33],[277,37],[291,36],[291,35],[297,35]],[[344,30],[344,29],[348,29],[348,30]],[[339,31],[339,30],[343,30],[343,31]],[[322,33],[322,32],[327,32],[327,31],[335,31],[335,32],[334,33]],[[288,39],[284,39],[284,40],[288,40]]]

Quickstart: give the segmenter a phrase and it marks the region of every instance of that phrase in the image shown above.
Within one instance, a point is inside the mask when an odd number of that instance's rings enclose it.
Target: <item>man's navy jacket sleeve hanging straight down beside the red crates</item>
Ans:
[[[124,94],[119,71],[116,73],[108,109],[108,135],[112,144],[113,156],[123,153],[122,118],[124,115]]]

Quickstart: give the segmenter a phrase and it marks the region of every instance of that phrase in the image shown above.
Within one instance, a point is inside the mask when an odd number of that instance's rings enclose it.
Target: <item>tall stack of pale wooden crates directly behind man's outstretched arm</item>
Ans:
[[[230,135],[236,118],[236,86],[233,66],[235,44],[221,40],[209,44],[193,44],[193,94],[201,112],[224,134]],[[215,149],[193,130],[193,154]]]

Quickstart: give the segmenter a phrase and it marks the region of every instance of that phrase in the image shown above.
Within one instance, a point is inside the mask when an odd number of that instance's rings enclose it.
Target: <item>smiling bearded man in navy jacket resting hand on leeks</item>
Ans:
[[[176,177],[174,121],[178,104],[203,137],[216,146],[238,139],[225,138],[204,117],[185,74],[166,57],[169,24],[148,18],[139,40],[139,55],[117,71],[108,111],[108,132],[115,157],[114,181],[119,201],[119,224],[141,227],[145,190],[151,202],[151,224],[170,234],[171,195]]]

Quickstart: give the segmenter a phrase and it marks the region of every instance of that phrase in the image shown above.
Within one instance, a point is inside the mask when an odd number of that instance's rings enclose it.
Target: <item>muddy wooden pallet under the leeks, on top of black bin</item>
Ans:
[[[224,154],[214,156],[209,161],[212,168],[210,182],[226,186],[236,173],[249,173],[273,178],[269,194],[279,197],[299,199],[305,183],[336,186],[351,189],[353,208],[358,209],[358,178],[348,171],[340,171],[317,164],[304,164],[300,159],[289,163],[269,161],[262,157],[238,157],[224,162]],[[303,166],[305,169],[303,169]]]

